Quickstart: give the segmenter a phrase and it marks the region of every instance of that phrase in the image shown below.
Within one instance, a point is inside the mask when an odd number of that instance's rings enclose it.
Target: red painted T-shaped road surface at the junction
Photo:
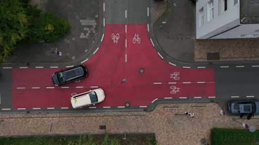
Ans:
[[[106,95],[96,106],[147,106],[156,98],[215,96],[214,69],[182,68],[164,61],[151,43],[147,25],[105,25],[100,48],[84,64],[89,76],[65,86],[54,86],[51,80],[61,68],[14,68],[13,108],[71,107],[72,93],[95,87]]]

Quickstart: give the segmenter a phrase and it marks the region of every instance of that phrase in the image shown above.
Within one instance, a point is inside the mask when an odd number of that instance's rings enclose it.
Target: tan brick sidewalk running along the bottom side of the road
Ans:
[[[152,112],[136,113],[85,113],[85,114],[37,114],[1,115],[1,136],[11,135],[56,135],[99,133],[150,133],[154,132],[158,144],[202,144],[205,138],[210,143],[210,129],[214,127],[245,129],[242,124],[258,127],[258,116],[250,120],[239,116],[223,116],[220,106],[207,104],[158,105]],[[184,115],[193,112],[194,118]],[[177,115],[181,114],[181,115]],[[233,121],[235,119],[236,121]],[[51,124],[52,131],[50,132]],[[99,129],[106,125],[106,129]],[[203,145],[203,144],[202,144]]]

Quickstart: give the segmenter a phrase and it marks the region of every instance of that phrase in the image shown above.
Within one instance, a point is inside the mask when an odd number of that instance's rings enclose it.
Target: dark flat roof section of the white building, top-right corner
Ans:
[[[240,24],[259,24],[259,1],[240,1]]]

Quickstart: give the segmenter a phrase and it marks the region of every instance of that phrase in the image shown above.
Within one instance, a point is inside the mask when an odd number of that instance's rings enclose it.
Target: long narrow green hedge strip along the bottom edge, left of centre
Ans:
[[[153,145],[153,134],[0,137],[0,145]]]

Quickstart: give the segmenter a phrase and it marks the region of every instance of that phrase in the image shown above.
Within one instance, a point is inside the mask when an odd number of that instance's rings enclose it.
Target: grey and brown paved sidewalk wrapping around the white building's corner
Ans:
[[[167,3],[165,3],[167,2]],[[178,5],[174,6],[174,2]],[[156,7],[160,8],[157,11]],[[160,15],[167,11],[160,19]],[[195,6],[188,0],[154,1],[155,37],[166,54],[179,61],[259,60],[259,38],[195,40]],[[166,22],[166,23],[163,23]],[[220,60],[207,60],[207,53],[220,53]]]

